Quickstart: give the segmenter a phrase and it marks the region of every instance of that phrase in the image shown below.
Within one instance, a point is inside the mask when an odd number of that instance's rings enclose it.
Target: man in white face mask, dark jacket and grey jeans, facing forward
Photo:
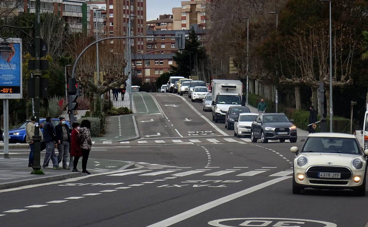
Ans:
[[[60,143],[57,145],[57,150],[59,155],[57,155],[57,162],[60,164],[63,161],[63,169],[70,170],[67,165],[68,153],[69,153],[69,143],[70,143],[70,133],[69,127],[66,124],[64,117],[59,118],[59,124],[55,126],[56,138]]]

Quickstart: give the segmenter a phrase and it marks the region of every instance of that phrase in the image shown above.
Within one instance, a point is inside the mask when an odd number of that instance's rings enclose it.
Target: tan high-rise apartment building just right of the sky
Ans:
[[[206,28],[206,8],[211,0],[182,1],[181,7],[173,8],[174,30],[189,29],[190,25],[199,24],[202,29]]]

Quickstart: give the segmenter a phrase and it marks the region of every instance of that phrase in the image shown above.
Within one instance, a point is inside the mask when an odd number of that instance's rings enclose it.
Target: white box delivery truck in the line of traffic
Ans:
[[[243,84],[236,80],[212,80],[212,120],[224,121],[230,106],[241,106]]]

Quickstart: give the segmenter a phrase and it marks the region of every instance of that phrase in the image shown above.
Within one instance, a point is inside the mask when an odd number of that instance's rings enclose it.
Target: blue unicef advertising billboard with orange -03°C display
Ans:
[[[6,41],[14,52],[0,52],[0,99],[21,99],[22,40],[9,38]]]

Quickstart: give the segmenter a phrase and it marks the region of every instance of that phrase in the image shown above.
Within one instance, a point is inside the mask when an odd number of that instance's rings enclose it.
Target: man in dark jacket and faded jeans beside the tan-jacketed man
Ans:
[[[55,128],[52,125],[52,118],[46,117],[46,123],[43,125],[43,141],[46,143],[46,154],[43,160],[42,168],[46,169],[49,166],[50,159],[53,164],[54,170],[60,170],[61,167],[57,162],[57,156],[55,154],[55,147],[60,143],[56,138]]]

